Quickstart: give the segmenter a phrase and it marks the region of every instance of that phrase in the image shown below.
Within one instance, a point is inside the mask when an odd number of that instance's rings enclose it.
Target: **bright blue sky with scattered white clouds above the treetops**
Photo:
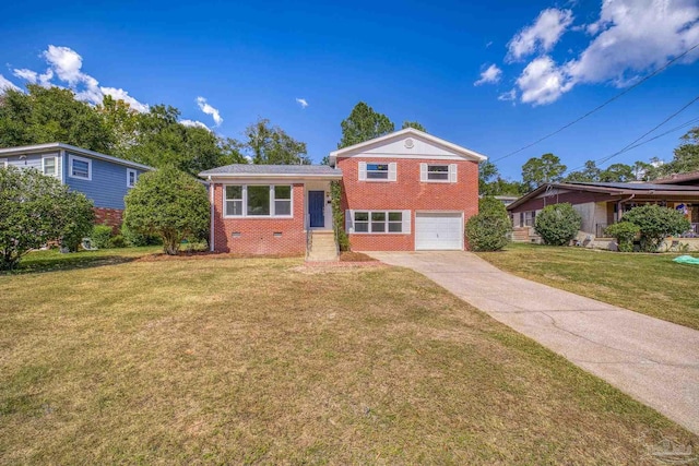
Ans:
[[[232,138],[269,118],[316,162],[336,147],[359,100],[396,128],[418,120],[498,159],[699,43],[699,0],[42,3],[0,5],[0,84],[58,84],[86,100],[128,96],[139,108],[166,103]],[[553,152],[576,168],[697,95],[699,48],[497,165],[518,179],[526,159]],[[692,118],[699,104],[657,133]],[[609,164],[671,159],[684,131]]]

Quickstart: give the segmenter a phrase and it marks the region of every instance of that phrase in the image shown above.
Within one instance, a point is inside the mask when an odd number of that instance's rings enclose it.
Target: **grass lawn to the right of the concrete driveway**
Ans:
[[[511,243],[478,255],[524,278],[699,330],[699,267],[680,254]]]

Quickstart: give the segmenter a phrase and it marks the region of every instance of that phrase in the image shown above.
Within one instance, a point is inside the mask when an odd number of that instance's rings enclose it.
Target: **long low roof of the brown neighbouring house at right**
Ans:
[[[561,182],[545,183],[536,188],[534,191],[524,194],[513,203],[507,206],[512,210],[522,205],[526,201],[538,196],[546,190],[560,189],[570,191],[587,191],[595,193],[606,193],[609,195],[628,195],[628,194],[652,194],[652,195],[699,195],[699,187],[675,186],[675,184],[657,184],[657,183],[606,183],[606,182]]]

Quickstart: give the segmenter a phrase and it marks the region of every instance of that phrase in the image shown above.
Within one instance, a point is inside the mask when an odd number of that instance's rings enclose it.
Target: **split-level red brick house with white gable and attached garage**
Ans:
[[[407,128],[330,154],[330,166],[236,164],[209,182],[211,249],[336,259],[331,183],[355,251],[464,249],[486,157]]]

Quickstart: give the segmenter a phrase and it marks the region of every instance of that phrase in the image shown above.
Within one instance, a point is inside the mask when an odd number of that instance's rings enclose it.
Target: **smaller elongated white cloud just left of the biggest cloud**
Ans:
[[[508,61],[517,61],[536,51],[548,52],[572,23],[570,10],[549,8],[529,27],[520,31],[507,45]]]

